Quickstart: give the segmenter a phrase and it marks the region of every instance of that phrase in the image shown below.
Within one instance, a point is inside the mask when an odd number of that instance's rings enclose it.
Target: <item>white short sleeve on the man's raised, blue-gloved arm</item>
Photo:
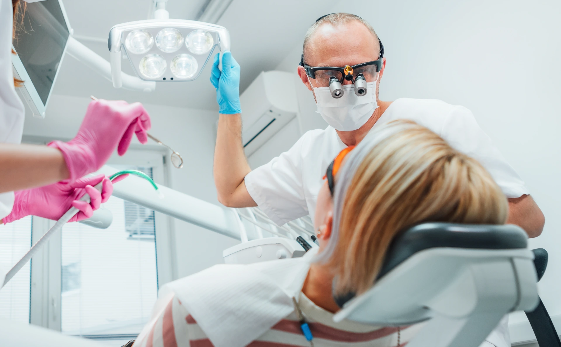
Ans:
[[[277,225],[308,214],[302,184],[302,144],[306,135],[245,177],[247,192]]]

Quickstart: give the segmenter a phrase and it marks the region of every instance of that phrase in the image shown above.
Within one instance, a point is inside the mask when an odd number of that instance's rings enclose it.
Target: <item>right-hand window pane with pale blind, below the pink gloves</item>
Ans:
[[[154,212],[114,196],[104,208],[113,214],[107,229],[62,228],[65,334],[139,334],[157,299]]]

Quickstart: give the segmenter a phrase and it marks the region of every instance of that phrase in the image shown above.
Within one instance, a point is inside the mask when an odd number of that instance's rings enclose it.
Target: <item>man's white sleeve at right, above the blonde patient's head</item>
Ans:
[[[467,108],[454,107],[440,136],[455,149],[479,161],[508,198],[530,194],[518,173],[507,163]]]

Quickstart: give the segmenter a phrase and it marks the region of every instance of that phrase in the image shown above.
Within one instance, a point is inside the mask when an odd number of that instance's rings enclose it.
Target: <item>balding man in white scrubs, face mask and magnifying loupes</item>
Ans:
[[[319,18],[306,33],[297,72],[329,126],[306,132],[287,152],[254,170],[241,143],[240,66],[227,52],[220,72],[215,57],[210,80],[217,88],[220,107],[214,154],[218,200],[229,207],[259,206],[278,225],[313,216],[322,177],[335,155],[344,147],[357,145],[381,124],[410,119],[478,160],[508,197],[507,223],[521,226],[530,237],[540,235],[544,215],[470,110],[440,100],[378,99],[386,63],[383,53],[374,29],[362,18],[349,13]],[[355,93],[353,85],[361,79],[359,75],[367,85],[362,96]],[[331,82],[341,82],[341,98],[332,96]]]

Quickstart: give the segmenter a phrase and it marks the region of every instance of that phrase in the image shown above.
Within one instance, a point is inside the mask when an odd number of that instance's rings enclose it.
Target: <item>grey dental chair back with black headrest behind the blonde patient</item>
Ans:
[[[533,260],[516,225],[419,224],[394,239],[373,288],[335,298],[334,320],[426,321],[407,347],[477,347],[505,314],[538,306]]]

